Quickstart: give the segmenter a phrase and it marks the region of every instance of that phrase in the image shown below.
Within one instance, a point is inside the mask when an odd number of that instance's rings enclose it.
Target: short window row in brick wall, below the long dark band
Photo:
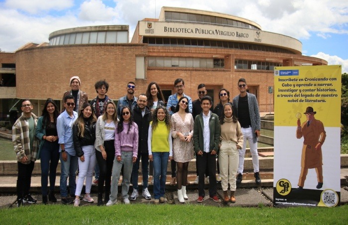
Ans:
[[[224,59],[149,57],[149,67],[224,68]]]

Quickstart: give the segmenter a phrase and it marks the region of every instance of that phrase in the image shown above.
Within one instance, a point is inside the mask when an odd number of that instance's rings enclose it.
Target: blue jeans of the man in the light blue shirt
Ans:
[[[68,177],[69,177],[70,195],[75,196],[76,171],[78,170],[78,156],[70,155],[68,152],[66,153],[68,156],[67,161],[63,160],[62,153],[60,153],[61,167],[62,167],[60,191],[61,191],[61,197],[63,198],[68,197],[68,189],[67,189]]]

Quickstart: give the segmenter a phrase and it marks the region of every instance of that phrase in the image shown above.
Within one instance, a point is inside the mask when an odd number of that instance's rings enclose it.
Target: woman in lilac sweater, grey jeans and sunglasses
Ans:
[[[117,202],[118,181],[123,166],[123,181],[121,196],[124,204],[129,204],[129,185],[132,175],[133,163],[138,157],[138,126],[133,122],[131,111],[124,106],[121,109],[120,122],[117,124],[115,133],[115,159],[112,167],[112,183],[109,201],[106,206]]]

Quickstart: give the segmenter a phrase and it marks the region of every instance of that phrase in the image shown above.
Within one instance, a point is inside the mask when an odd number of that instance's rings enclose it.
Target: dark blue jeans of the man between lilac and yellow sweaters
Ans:
[[[137,161],[133,164],[132,171],[132,184],[133,189],[139,190],[138,187],[138,176],[139,176],[139,164],[141,158],[141,173],[143,174],[143,190],[148,188],[149,184],[149,152],[141,152],[138,154]]]

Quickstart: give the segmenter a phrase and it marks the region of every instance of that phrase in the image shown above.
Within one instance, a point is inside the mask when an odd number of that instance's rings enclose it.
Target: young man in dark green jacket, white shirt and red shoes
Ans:
[[[209,171],[209,197],[214,202],[220,202],[216,196],[216,153],[219,150],[220,124],[219,117],[210,111],[212,99],[210,96],[202,98],[202,113],[196,116],[193,127],[194,151],[198,165],[198,199],[203,202],[204,173],[208,167]]]

